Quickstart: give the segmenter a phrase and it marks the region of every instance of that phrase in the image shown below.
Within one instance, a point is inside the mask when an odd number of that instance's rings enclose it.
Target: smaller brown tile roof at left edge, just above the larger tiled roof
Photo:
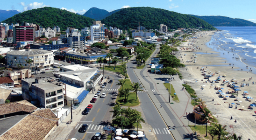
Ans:
[[[0,115],[10,114],[14,112],[33,112],[37,109],[35,105],[32,105],[27,100],[22,100],[18,102],[11,102],[8,104],[0,105]]]

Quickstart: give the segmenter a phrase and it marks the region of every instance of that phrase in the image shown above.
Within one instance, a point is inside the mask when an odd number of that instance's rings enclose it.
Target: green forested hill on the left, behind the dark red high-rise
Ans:
[[[20,14],[15,14],[13,17],[8,18],[5,21],[8,24],[11,23],[36,23],[43,28],[53,28],[54,26],[60,27],[61,30],[65,30],[67,27],[72,28],[84,28],[92,25],[91,18],[83,15],[61,10],[59,8],[43,7],[38,9],[32,9]]]

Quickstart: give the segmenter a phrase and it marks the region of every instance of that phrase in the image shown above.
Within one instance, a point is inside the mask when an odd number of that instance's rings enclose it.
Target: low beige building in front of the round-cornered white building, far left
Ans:
[[[10,77],[15,84],[21,84],[21,79],[27,79],[31,77],[31,70],[24,69],[18,71],[5,70],[3,77]]]

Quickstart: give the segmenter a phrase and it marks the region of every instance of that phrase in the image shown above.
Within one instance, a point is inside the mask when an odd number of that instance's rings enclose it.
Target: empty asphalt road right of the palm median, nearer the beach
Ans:
[[[158,52],[158,50],[159,49],[156,49],[155,52]],[[133,67],[137,66],[135,61],[131,61],[131,62],[127,63],[127,66],[128,66],[127,73],[128,73],[129,78],[131,79],[131,81],[135,82],[135,83],[136,82],[141,83],[140,80],[138,79],[138,77],[135,75],[134,70],[133,70]],[[156,133],[157,140],[174,140],[172,135],[167,132],[169,130],[166,129],[167,126],[164,123],[164,120],[162,119],[161,115],[157,111],[156,106],[153,104],[153,102],[149,98],[149,95],[146,92],[138,93],[138,97],[141,101],[142,111],[145,115],[145,119],[146,119],[147,123],[152,126],[154,131],[157,131],[157,133],[154,132],[154,133]],[[147,131],[147,130],[145,130],[145,131]]]

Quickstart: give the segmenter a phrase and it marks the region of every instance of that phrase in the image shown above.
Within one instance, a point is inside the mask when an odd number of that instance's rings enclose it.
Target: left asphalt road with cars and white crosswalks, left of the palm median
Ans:
[[[103,126],[107,126],[108,123],[111,122],[112,113],[109,111],[113,110],[111,107],[114,106],[115,98],[117,97],[118,93],[117,90],[120,87],[119,85],[116,85],[116,82],[122,77],[118,74],[107,71],[105,71],[105,76],[110,77],[110,79],[108,79],[107,81],[111,79],[113,80],[112,84],[107,83],[106,88],[101,91],[101,94],[107,93],[106,98],[100,98],[99,96],[96,103],[92,103],[93,106],[91,111],[89,112],[89,114],[84,115],[80,122],[78,122],[78,125],[73,128],[68,136],[68,139],[76,138],[77,140],[92,140],[92,137],[95,133],[103,133]],[[89,126],[86,133],[78,132],[82,124],[87,124]]]

